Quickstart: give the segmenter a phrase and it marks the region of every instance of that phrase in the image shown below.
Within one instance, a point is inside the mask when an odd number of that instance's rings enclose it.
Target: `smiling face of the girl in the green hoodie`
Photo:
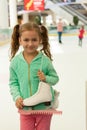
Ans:
[[[41,39],[35,30],[24,31],[19,38],[20,45],[23,46],[24,51],[27,54],[33,54],[36,52],[40,45]]]

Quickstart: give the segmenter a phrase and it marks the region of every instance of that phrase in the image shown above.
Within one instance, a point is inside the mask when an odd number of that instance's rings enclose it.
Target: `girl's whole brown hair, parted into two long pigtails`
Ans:
[[[43,51],[51,60],[52,60],[52,55],[50,53],[50,44],[49,44],[49,39],[48,39],[48,31],[45,26],[43,25],[37,25],[36,23],[25,23],[20,25],[16,25],[13,29],[13,34],[12,34],[12,40],[11,40],[11,59],[15,56],[16,52],[19,49],[19,37],[22,35],[24,31],[31,31],[35,30],[39,37],[41,38],[43,48],[41,51]]]

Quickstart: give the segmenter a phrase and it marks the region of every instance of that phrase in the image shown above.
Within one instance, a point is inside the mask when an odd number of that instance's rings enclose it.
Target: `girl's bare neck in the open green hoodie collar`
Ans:
[[[27,61],[27,63],[30,64],[31,61],[38,55],[38,53],[39,53],[38,51],[31,54],[27,54],[23,52],[23,56],[24,56],[24,59]]]

